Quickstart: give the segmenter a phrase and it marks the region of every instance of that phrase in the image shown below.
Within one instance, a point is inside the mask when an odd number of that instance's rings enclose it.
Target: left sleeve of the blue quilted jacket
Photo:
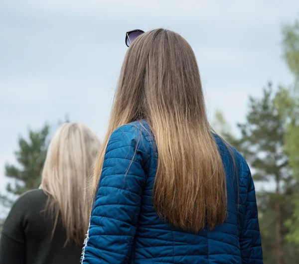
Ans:
[[[142,132],[126,125],[112,133],[93,206],[83,264],[129,262],[150,154]]]

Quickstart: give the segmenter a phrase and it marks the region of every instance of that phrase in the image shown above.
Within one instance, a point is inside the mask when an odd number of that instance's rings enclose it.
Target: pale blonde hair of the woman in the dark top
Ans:
[[[48,195],[46,212],[54,218],[52,236],[60,214],[66,243],[84,242],[92,199],[88,178],[99,147],[97,135],[78,123],[63,124],[50,142],[40,188]]]

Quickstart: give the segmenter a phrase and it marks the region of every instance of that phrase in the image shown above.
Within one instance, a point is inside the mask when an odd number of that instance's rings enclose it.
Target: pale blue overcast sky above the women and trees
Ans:
[[[69,114],[102,138],[125,32],[164,27],[193,47],[209,117],[244,120],[248,95],[291,84],[281,26],[298,0],[0,0],[0,190],[18,135]]]

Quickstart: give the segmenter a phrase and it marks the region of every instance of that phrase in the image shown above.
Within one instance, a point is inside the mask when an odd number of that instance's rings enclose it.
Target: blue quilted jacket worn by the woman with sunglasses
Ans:
[[[249,167],[234,150],[237,181],[227,147],[217,136],[216,141],[227,175],[227,220],[212,231],[204,229],[192,234],[165,223],[153,208],[157,151],[148,124],[135,122],[113,132],[82,263],[262,264],[258,210]]]

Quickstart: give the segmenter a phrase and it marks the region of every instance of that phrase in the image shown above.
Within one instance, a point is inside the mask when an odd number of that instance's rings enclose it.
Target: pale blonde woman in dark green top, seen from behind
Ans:
[[[58,129],[40,189],[18,198],[4,223],[1,264],[80,263],[91,205],[87,181],[98,148],[97,135],[83,124]]]

